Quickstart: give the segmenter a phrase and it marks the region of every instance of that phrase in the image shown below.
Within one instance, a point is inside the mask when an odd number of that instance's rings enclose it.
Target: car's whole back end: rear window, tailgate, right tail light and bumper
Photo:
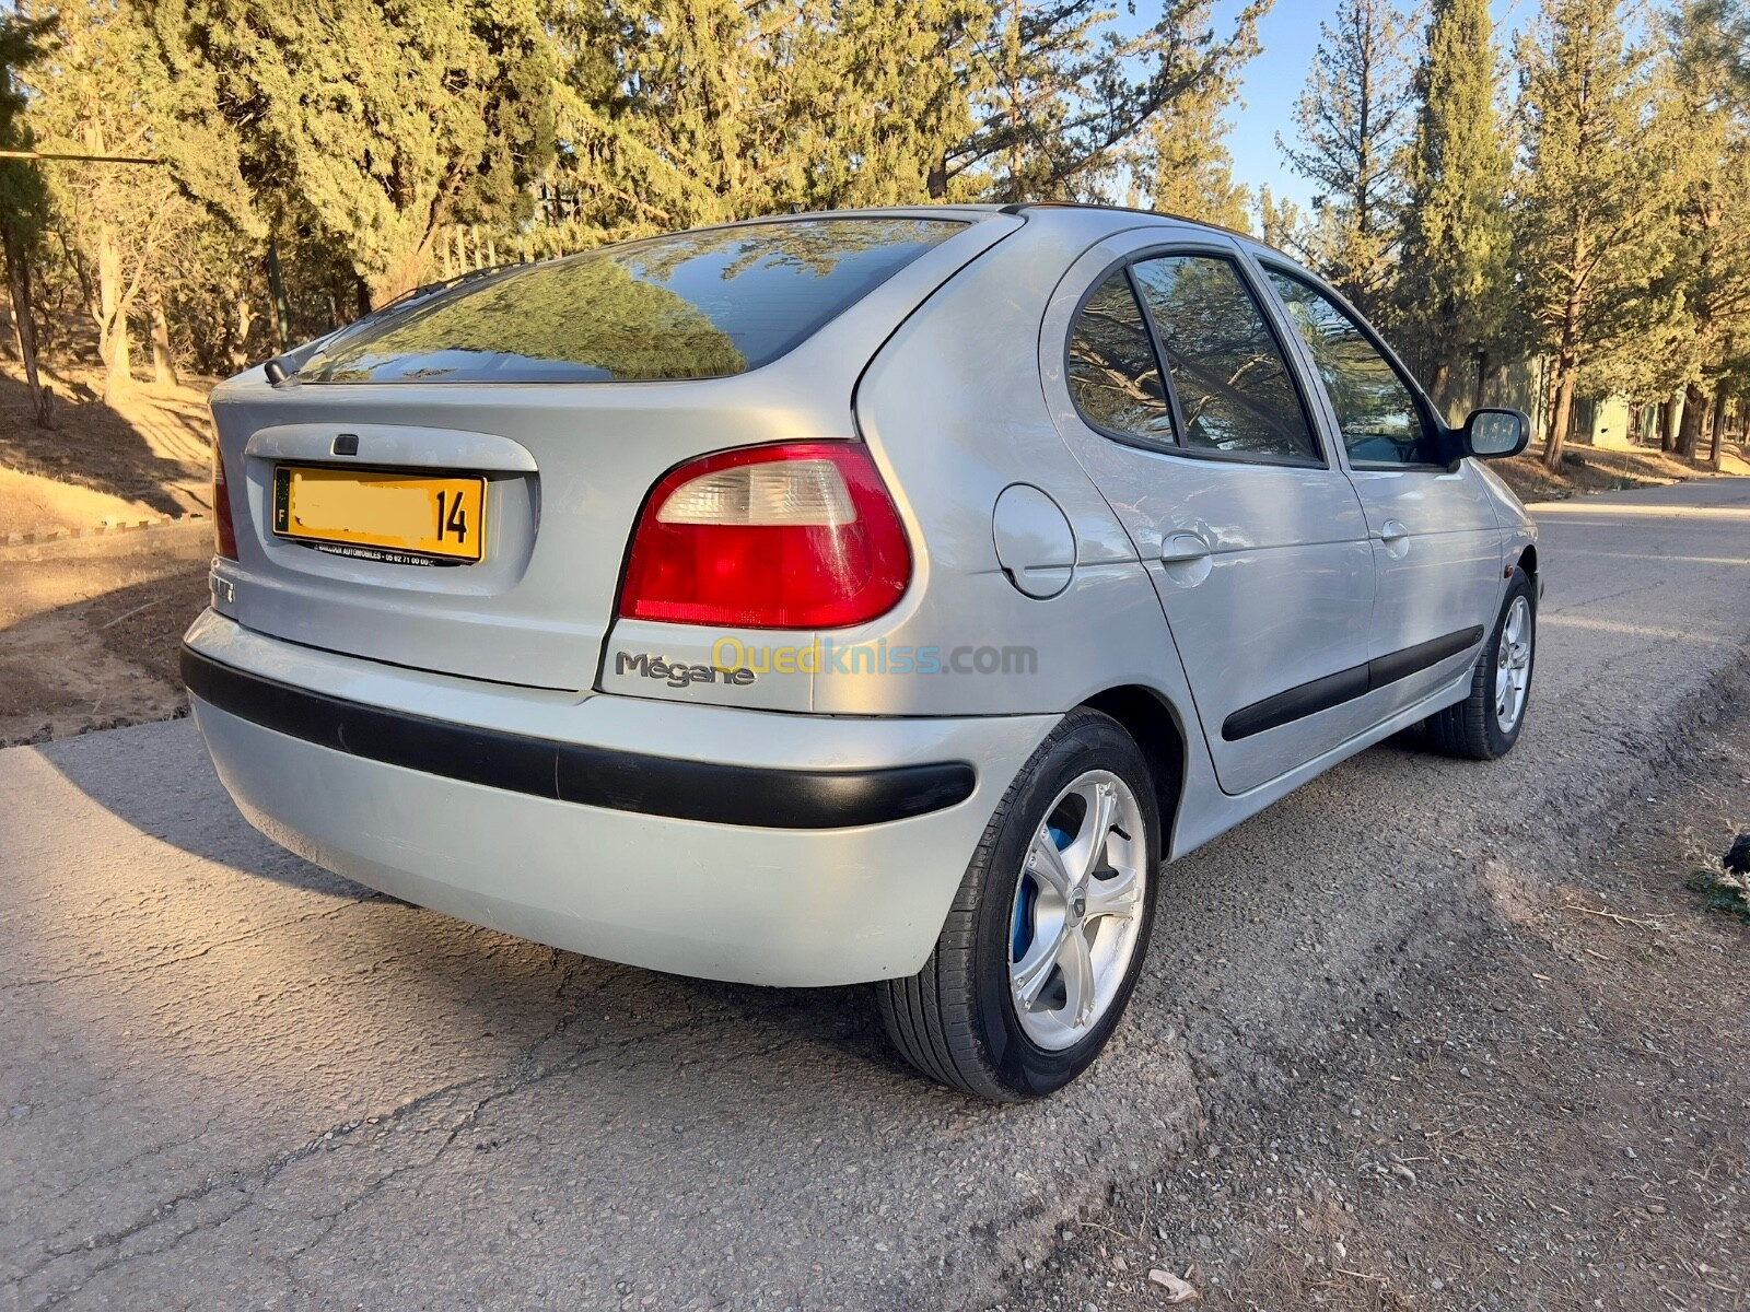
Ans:
[[[220,553],[184,672],[242,812],[362,883],[612,960],[915,971],[1052,717],[814,715],[805,670],[702,653],[903,616],[928,563],[858,378],[1017,226],[614,247],[220,387]]]

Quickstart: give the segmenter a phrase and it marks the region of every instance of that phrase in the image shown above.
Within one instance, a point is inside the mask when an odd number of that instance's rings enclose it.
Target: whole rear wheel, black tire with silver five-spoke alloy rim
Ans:
[[[1143,754],[1108,715],[1069,714],[990,819],[924,969],[878,985],[894,1044],[987,1099],[1068,1085],[1136,987],[1158,861]]]

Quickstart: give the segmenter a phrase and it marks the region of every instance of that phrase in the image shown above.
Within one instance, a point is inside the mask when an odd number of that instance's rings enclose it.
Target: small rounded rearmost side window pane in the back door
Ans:
[[[1155,348],[1124,269],[1102,282],[1076,317],[1069,390],[1082,415],[1101,429],[1174,444]]]

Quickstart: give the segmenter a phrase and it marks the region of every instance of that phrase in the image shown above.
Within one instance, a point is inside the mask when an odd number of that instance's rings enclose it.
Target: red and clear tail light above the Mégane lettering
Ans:
[[[620,614],[724,628],[844,628],[912,579],[900,511],[861,443],[707,455],[651,492]]]

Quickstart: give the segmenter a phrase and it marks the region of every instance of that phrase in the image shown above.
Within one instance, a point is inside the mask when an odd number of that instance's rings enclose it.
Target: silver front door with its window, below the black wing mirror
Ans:
[[[1384,717],[1463,673],[1494,623],[1502,532],[1482,476],[1449,462],[1449,436],[1409,374],[1328,287],[1260,259],[1342,436],[1374,544],[1370,698]]]

